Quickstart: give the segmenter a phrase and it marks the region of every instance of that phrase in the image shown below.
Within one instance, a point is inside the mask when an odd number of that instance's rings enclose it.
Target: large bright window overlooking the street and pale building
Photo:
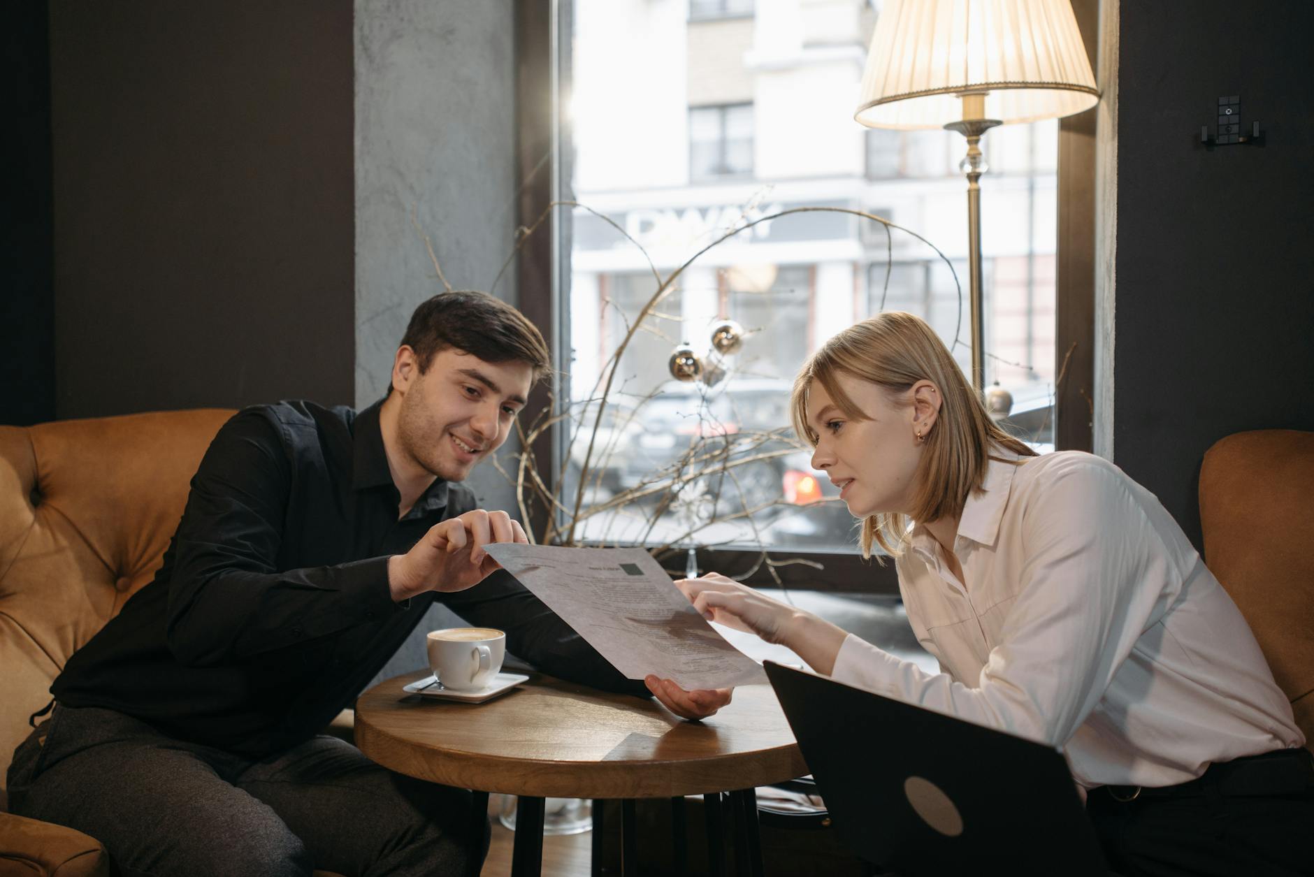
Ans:
[[[586,478],[583,504],[599,509],[576,536],[854,551],[851,517],[790,431],[788,390],[809,353],[880,309],[924,316],[968,366],[966,144],[853,121],[863,59],[836,47],[867,45],[865,4],[778,0],[699,21],[740,5],[692,3],[685,16],[652,0],[573,4],[568,184],[589,209],[562,236],[576,414],[562,453],[568,482]],[[1012,125],[983,139],[987,381],[1012,393],[1041,446],[1055,378],[1056,134]],[[741,344],[719,352],[724,320]],[[698,379],[673,377],[673,360],[700,368]]]

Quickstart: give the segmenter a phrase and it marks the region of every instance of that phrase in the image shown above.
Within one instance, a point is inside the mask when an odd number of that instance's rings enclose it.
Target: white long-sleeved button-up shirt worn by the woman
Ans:
[[[850,635],[832,677],[1060,747],[1084,786],[1185,782],[1305,742],[1236,605],[1155,496],[1100,457],[996,450],[950,571],[897,561],[928,674]]]

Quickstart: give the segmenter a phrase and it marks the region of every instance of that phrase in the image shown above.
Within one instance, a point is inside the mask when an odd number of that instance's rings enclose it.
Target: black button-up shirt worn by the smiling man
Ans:
[[[393,603],[388,557],[476,505],[468,487],[435,481],[398,520],[380,404],[357,415],[283,402],[229,420],[155,579],[74,654],[55,700],[271,754],[351,705],[435,599],[505,630],[507,649],[548,674],[646,693],[503,571]]]

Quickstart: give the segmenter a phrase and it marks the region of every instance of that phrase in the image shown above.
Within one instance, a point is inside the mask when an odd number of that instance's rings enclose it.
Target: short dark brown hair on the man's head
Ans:
[[[435,353],[449,348],[485,362],[528,362],[535,379],[552,365],[548,345],[533,323],[487,293],[460,290],[434,295],[411,314],[402,344],[415,351],[422,373],[428,370]]]

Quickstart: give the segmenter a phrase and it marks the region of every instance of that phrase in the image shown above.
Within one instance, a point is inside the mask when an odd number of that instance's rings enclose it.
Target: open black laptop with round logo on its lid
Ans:
[[[1108,874],[1063,755],[766,662],[840,838],[899,877]]]

